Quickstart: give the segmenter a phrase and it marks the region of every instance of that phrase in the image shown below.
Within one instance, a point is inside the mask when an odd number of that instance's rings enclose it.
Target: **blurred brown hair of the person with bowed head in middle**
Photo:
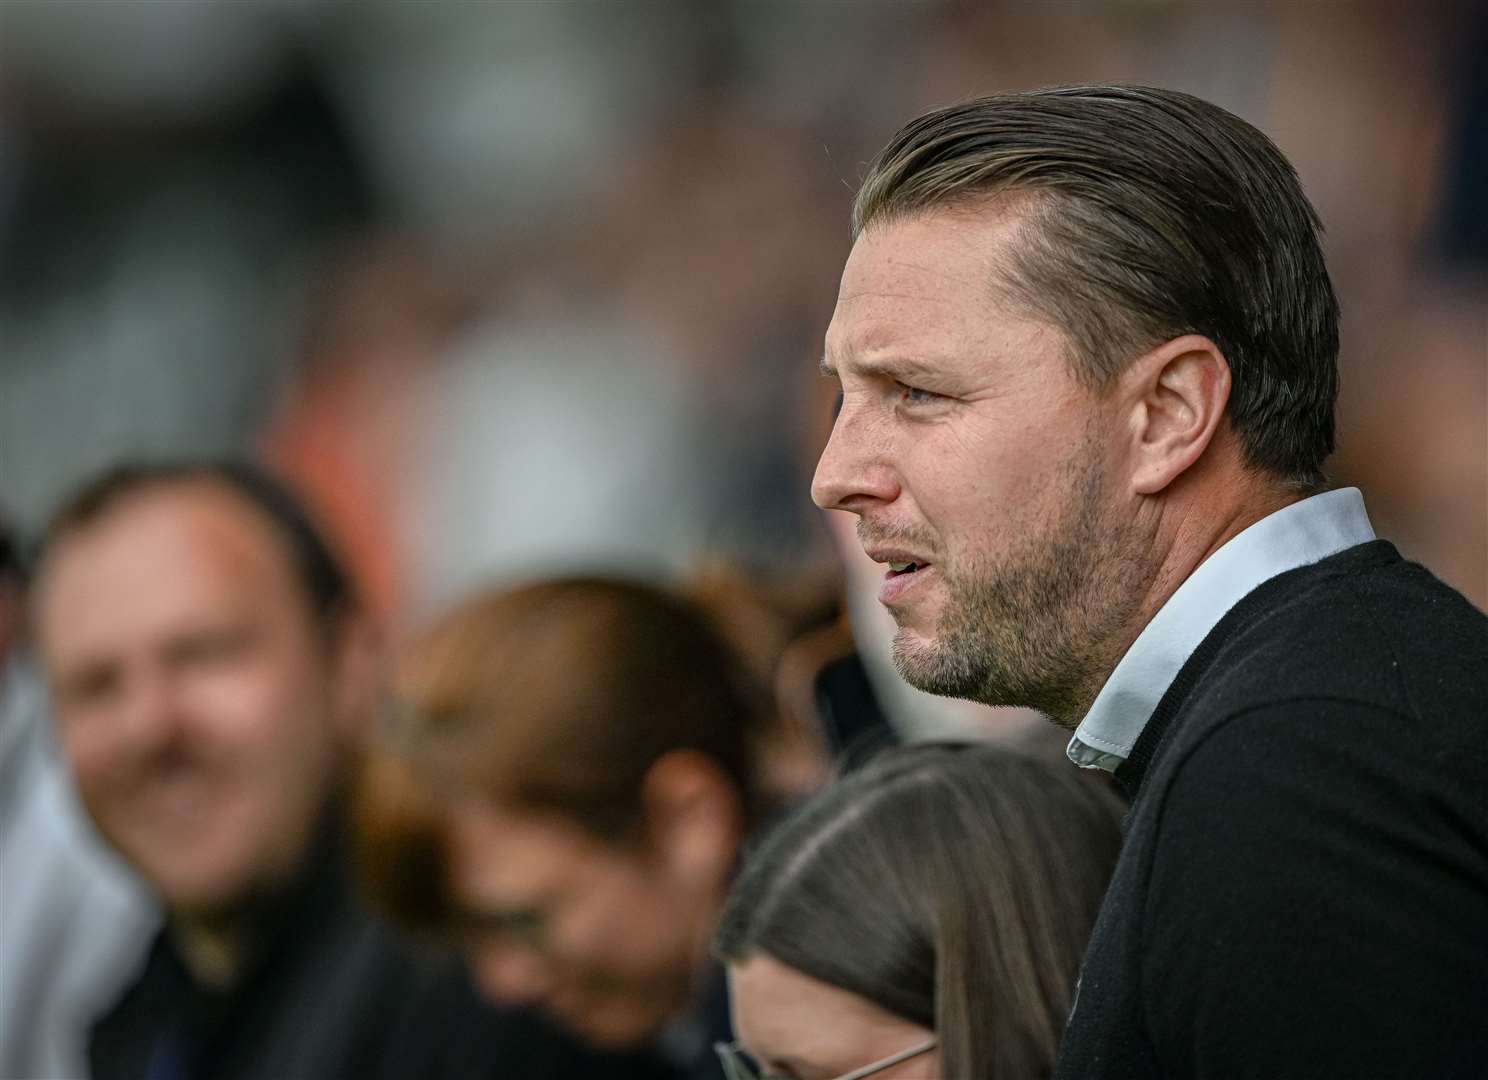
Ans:
[[[759,812],[762,696],[710,617],[661,589],[568,577],[479,595],[415,646],[399,695],[359,832],[373,893],[408,925],[446,915],[436,790],[623,843],[643,835],[650,768],[690,750],[734,787],[745,827]]]

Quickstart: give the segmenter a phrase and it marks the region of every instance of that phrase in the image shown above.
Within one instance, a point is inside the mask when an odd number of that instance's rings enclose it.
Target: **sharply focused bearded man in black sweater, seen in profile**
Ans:
[[[1338,305],[1259,131],[1092,86],[908,125],[814,482],[921,689],[1134,796],[1061,1077],[1488,1074],[1488,620],[1330,491]]]

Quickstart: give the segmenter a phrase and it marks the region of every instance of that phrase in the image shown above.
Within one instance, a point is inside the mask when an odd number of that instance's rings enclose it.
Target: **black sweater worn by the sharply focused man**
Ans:
[[[1266,582],[1117,780],[1061,1080],[1488,1077],[1488,619],[1385,541]]]

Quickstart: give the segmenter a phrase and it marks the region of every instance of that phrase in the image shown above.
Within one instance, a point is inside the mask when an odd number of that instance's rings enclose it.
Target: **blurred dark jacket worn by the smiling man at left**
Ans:
[[[399,939],[357,899],[339,832],[251,921],[243,976],[198,985],[162,933],[95,1025],[94,1080],[649,1080],[534,1015],[494,1010],[451,960]]]

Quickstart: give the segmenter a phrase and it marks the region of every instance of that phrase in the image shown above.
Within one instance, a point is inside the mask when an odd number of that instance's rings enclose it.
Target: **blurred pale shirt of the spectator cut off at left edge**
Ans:
[[[16,547],[0,530],[0,1076],[79,1077],[88,1025],[138,962],[155,909],[58,759]]]

